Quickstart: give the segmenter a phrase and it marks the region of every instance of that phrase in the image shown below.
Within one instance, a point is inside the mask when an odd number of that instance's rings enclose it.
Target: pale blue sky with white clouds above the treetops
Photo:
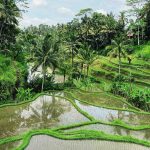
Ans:
[[[28,12],[23,14],[21,27],[29,25],[65,23],[71,21],[81,9],[118,14],[126,9],[126,0],[28,0]]]

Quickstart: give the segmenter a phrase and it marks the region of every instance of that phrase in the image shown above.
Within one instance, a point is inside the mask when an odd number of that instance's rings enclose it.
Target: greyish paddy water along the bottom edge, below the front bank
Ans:
[[[45,135],[34,136],[26,150],[149,150],[129,143],[100,140],[59,140]]]

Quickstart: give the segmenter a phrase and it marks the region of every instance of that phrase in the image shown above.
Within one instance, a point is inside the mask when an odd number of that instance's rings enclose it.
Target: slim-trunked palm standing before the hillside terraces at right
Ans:
[[[124,40],[122,38],[118,38],[116,40],[112,40],[112,44],[107,46],[106,49],[110,49],[108,56],[110,58],[116,56],[118,57],[118,64],[119,64],[119,75],[121,73],[121,57],[126,57],[126,45],[124,45]]]

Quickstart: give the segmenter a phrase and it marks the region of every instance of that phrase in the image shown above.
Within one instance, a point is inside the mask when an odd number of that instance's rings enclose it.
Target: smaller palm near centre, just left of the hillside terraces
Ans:
[[[87,43],[81,44],[78,58],[80,59],[83,66],[87,69],[87,77],[89,75],[90,65],[97,59],[96,53],[91,49]]]

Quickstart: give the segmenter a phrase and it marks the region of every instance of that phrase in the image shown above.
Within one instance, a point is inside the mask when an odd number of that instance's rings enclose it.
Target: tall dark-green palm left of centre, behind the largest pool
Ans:
[[[34,67],[32,71],[36,71],[40,66],[42,66],[42,88],[44,89],[45,76],[47,73],[47,69],[50,67],[52,69],[52,73],[54,74],[55,68],[58,63],[58,53],[56,51],[56,44],[51,39],[51,35],[47,35],[44,39],[44,43],[42,49],[38,49],[35,53],[34,58]]]

